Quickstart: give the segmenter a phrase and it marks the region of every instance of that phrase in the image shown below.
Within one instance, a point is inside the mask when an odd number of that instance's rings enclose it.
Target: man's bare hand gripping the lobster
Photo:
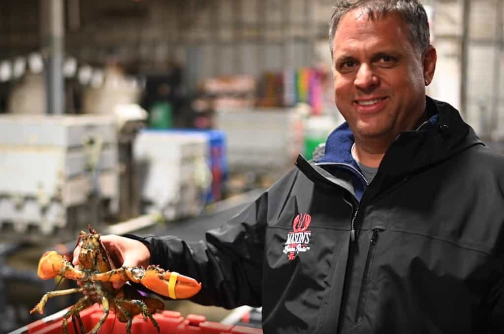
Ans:
[[[100,240],[106,248],[110,260],[117,267],[147,267],[151,262],[151,253],[149,248],[142,242],[130,238],[124,238],[116,235],[101,236]],[[79,264],[79,253],[81,252],[81,243],[74,249],[74,258],[72,263]],[[124,282],[114,282],[112,285],[119,289]]]

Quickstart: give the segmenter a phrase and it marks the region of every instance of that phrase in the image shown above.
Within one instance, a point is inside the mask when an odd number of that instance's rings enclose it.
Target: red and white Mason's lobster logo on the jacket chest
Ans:
[[[310,226],[311,216],[308,213],[298,213],[292,222],[292,231],[287,234],[284,254],[287,254],[289,260],[296,258],[299,252],[306,252],[310,249],[308,246],[311,237]]]

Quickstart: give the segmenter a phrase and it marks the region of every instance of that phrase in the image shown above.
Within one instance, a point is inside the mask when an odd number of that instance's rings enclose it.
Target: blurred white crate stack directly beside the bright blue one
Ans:
[[[167,220],[201,212],[212,182],[207,136],[143,130],[133,152],[144,212]]]

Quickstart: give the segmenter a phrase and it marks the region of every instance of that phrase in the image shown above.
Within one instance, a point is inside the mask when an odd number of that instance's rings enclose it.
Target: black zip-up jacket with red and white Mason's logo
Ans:
[[[266,333],[504,332],[504,159],[450,105],[427,113],[362,198],[351,164],[300,156],[206,241],[144,238],[152,262],[201,281],[195,302],[262,306]]]

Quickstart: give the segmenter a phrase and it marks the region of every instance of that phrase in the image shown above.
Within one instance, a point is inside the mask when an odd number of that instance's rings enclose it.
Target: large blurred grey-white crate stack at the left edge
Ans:
[[[47,239],[56,234],[75,237],[89,222],[99,228],[93,217],[104,203],[108,203],[109,213],[117,210],[114,120],[105,116],[3,115],[0,170],[0,231],[4,237],[11,233],[20,239]],[[94,204],[91,197],[96,199]]]

